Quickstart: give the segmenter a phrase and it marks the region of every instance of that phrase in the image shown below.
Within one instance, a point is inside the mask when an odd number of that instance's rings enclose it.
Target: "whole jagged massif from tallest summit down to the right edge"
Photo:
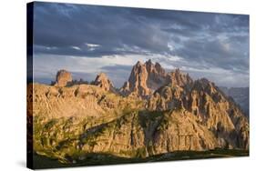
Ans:
[[[148,60],[145,64],[138,62],[134,65],[122,91],[126,95],[147,97],[148,110],[189,111],[216,136],[218,146],[249,146],[246,117],[218,86],[206,78],[193,81],[179,68],[166,73],[159,63],[153,64]]]

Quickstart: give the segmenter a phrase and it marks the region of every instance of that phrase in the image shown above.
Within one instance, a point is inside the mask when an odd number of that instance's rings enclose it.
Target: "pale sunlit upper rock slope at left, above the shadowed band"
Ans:
[[[72,85],[59,87],[33,84],[29,91],[30,103],[33,100],[33,116],[46,118],[60,117],[103,117],[119,114],[126,107],[138,108],[137,99],[116,94],[106,96],[106,90],[97,85]],[[141,105],[140,105],[141,106]],[[32,111],[31,111],[32,113]]]

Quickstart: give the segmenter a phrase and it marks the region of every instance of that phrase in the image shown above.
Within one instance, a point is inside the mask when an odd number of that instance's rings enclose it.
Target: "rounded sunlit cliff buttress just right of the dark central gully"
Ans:
[[[199,125],[198,122],[198,117],[184,109],[165,113],[153,136],[155,154],[223,147],[208,127]]]

